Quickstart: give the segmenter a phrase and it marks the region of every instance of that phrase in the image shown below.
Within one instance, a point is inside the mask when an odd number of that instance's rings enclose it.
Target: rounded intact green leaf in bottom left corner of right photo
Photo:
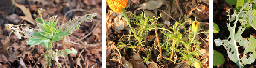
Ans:
[[[225,58],[223,57],[223,55],[220,52],[214,50],[213,51],[213,66],[221,65],[224,63],[224,61],[225,61]]]

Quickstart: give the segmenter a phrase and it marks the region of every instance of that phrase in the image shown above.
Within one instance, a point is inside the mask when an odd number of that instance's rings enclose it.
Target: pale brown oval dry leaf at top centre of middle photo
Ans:
[[[154,10],[154,9],[158,9],[162,6],[162,1],[158,0],[158,1],[148,1],[146,3],[143,3],[140,5],[140,8],[138,9],[148,9],[148,10]]]

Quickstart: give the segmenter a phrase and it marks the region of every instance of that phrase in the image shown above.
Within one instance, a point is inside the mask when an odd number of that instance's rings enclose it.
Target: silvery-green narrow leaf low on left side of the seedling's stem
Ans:
[[[47,38],[39,38],[39,39],[35,39],[35,38],[30,38],[29,41],[27,41],[27,44],[29,44],[30,46],[33,46],[34,44],[41,44],[44,42],[49,42],[50,40]]]

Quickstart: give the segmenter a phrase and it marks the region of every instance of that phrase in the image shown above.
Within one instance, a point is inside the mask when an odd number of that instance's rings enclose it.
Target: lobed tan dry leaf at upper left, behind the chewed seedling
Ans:
[[[19,16],[21,19],[24,19],[24,20],[28,21],[29,23],[35,25],[34,19],[32,18],[29,8],[26,8],[24,5],[20,5],[17,3],[15,3],[15,6],[20,8],[21,11],[25,14],[25,16]]]

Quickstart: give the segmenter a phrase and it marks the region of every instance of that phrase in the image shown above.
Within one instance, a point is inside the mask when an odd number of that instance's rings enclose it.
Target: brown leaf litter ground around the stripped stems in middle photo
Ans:
[[[157,24],[163,24],[163,27],[169,28],[178,19],[187,19],[191,18],[195,20],[195,16],[198,16],[198,21],[202,22],[201,28],[204,31],[209,30],[209,0],[157,0],[154,3],[148,3],[150,0],[128,0],[128,5],[125,8],[127,13],[133,13],[135,15],[140,15],[141,11],[145,11],[147,16],[159,16],[162,14],[162,17],[158,19]],[[142,6],[142,4],[145,4]],[[174,64],[169,60],[162,59],[163,61],[157,62],[157,55],[159,51],[152,50],[150,62],[143,62],[143,57],[147,57],[143,52],[134,52],[132,49],[117,48],[118,42],[122,41],[125,44],[128,44],[129,41],[119,40],[122,35],[128,35],[127,24],[124,24],[125,18],[120,14],[114,13],[109,7],[106,5],[106,66],[107,68],[118,67],[118,68],[126,68],[126,67],[134,67],[134,68],[173,68],[173,67],[186,67],[186,64],[179,62],[178,60]],[[160,7],[157,7],[160,6]],[[129,14],[128,14],[129,15]],[[187,15],[187,18],[184,18],[184,15]],[[167,22],[167,23],[166,23]],[[170,22],[170,23],[168,23]],[[116,26],[119,24],[119,26]],[[137,27],[136,24],[131,23],[132,27]],[[161,33],[158,33],[161,34]],[[200,61],[202,62],[202,68],[209,68],[209,33],[199,34],[200,37],[197,38],[199,42],[201,42],[201,50],[200,52],[202,58]],[[155,32],[149,31],[148,35],[143,38],[143,45],[148,46],[148,48],[143,48],[149,50],[155,39]],[[160,36],[163,38],[163,35]],[[133,37],[131,38],[130,43],[134,43]],[[161,43],[163,41],[160,40]],[[138,49],[137,49],[138,50]],[[121,54],[120,54],[121,53]],[[124,53],[124,54],[122,54]],[[176,52],[177,53],[177,52]],[[181,57],[178,54],[178,57]],[[151,61],[152,60],[152,61]]]

